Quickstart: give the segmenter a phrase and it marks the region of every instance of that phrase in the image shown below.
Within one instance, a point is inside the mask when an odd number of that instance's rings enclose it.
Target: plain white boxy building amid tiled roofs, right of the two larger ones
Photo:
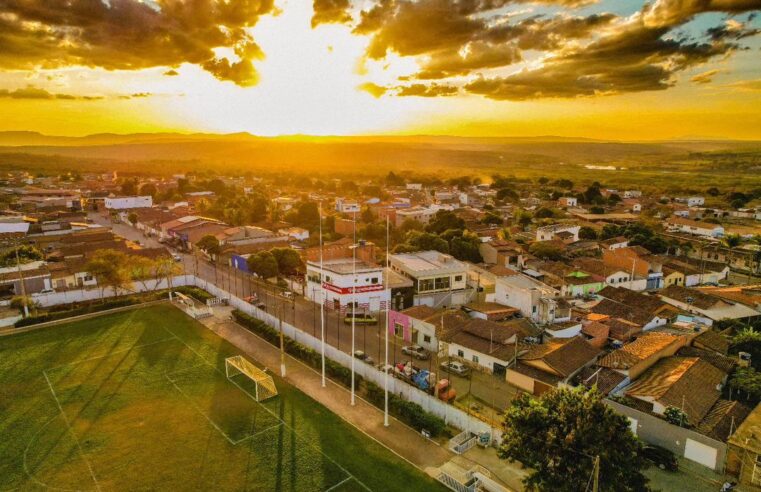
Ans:
[[[498,277],[494,287],[494,302],[520,309],[537,323],[555,321],[559,296],[557,289],[523,274]]]

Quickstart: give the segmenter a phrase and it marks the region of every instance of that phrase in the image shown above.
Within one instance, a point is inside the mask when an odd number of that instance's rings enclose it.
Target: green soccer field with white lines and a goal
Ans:
[[[0,337],[0,491],[437,490],[169,305]]]

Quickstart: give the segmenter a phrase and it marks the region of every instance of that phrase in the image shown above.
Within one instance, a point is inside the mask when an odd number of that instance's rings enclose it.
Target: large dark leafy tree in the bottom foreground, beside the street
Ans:
[[[499,456],[533,470],[523,480],[528,490],[589,490],[596,457],[602,490],[648,490],[642,445],[629,420],[595,389],[553,389],[539,398],[521,394],[504,427]]]

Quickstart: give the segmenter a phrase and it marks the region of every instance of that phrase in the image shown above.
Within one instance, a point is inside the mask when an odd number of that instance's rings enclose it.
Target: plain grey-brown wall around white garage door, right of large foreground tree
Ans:
[[[724,471],[727,455],[727,445],[725,443],[698,434],[690,429],[669,424],[663,419],[621,405],[612,400],[605,400],[605,403],[616,412],[637,421],[637,436],[640,439],[646,443],[666,448],[677,456],[684,456],[687,439],[716,449],[716,464],[713,470],[720,473]]]

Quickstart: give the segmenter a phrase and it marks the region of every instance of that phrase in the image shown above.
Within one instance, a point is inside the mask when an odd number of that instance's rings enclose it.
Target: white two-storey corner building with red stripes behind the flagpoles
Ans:
[[[386,309],[390,290],[383,285],[383,268],[361,260],[339,258],[323,262],[307,262],[305,296],[320,302],[325,293],[325,306],[344,312],[354,305],[357,311],[378,312]]]

